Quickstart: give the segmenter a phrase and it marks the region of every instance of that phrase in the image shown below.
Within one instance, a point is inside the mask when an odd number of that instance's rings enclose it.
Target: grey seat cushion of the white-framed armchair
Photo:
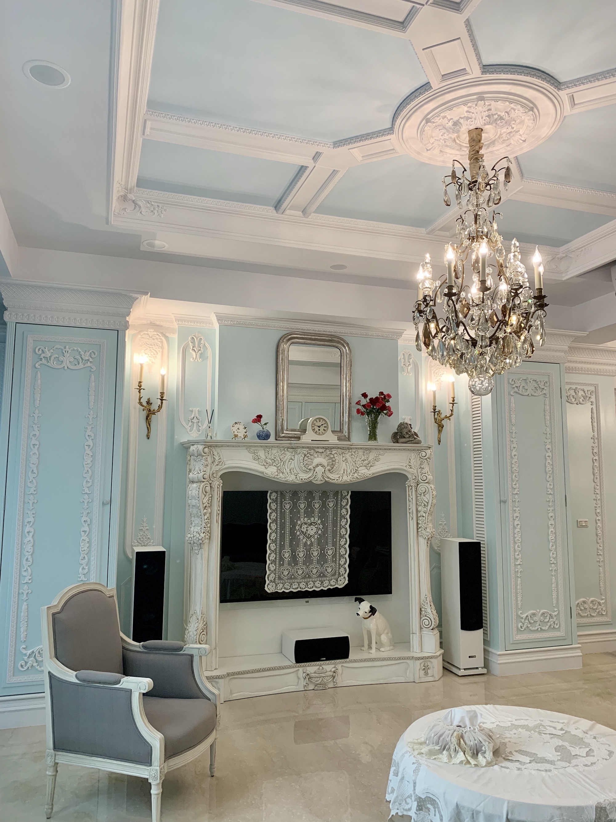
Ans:
[[[144,696],[150,725],[165,738],[165,759],[204,741],[216,727],[216,706],[209,700],[173,700]]]

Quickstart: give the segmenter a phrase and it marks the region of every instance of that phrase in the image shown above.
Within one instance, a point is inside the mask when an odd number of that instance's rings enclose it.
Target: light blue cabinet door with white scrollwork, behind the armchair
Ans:
[[[42,690],[40,608],[67,585],[108,580],[117,333],[16,325],[0,693]]]

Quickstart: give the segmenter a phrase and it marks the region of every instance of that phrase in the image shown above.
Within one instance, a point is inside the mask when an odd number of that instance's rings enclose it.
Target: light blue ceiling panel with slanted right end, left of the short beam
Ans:
[[[274,205],[299,168],[271,159],[144,140],[137,185],[159,192]]]

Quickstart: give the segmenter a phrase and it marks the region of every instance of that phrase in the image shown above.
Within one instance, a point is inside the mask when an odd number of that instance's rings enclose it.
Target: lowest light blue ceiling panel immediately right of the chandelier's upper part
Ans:
[[[505,240],[514,237],[533,245],[563,246],[582,237],[593,229],[609,223],[611,217],[556,208],[554,205],[536,205],[519,200],[508,200],[499,205],[503,217],[497,217],[500,233]],[[526,260],[522,260],[526,266]]]

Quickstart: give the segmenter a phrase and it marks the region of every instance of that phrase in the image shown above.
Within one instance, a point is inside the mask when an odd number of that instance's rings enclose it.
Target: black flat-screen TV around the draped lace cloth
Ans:
[[[220,602],[249,603],[317,597],[368,598],[392,593],[392,495],[352,491],[348,583],[323,591],[265,590],[268,492],[223,492]]]

